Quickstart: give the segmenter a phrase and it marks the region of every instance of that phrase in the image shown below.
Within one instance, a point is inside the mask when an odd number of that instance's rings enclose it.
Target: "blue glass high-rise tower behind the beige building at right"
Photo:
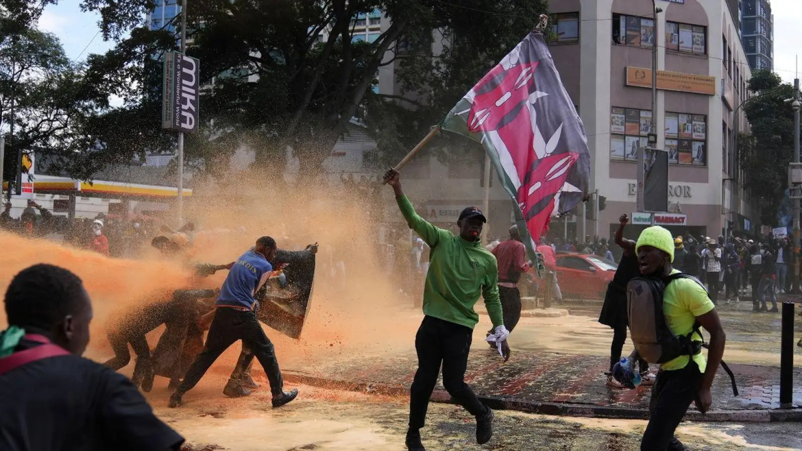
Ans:
[[[749,67],[774,69],[774,16],[769,0],[740,0],[741,39]]]

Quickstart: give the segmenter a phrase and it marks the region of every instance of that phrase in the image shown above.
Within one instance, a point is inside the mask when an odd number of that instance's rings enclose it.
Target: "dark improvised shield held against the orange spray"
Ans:
[[[254,299],[259,303],[257,318],[269,327],[290,338],[298,339],[309,313],[314,283],[314,254],[302,251],[282,251],[276,254],[276,265],[284,268],[286,286],[265,283]]]

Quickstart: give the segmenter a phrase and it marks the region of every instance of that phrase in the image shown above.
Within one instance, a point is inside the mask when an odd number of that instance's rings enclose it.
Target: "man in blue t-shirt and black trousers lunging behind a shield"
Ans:
[[[298,396],[297,389],[284,391],[273,343],[270,343],[253,311],[256,303],[253,295],[273,272],[269,261],[273,260],[275,254],[276,241],[261,237],[252,250],[242,254],[231,266],[217,297],[217,312],[209,327],[203,351],[192,362],[176,392],[170,396],[169,407],[180,406],[181,396],[195,387],[217,357],[238,340],[249,347],[265,369],[273,392],[273,407],[287,404]]]

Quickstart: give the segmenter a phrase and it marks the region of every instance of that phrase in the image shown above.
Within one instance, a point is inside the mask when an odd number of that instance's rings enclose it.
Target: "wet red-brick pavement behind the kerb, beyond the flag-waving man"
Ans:
[[[719,305],[719,313],[727,331],[724,359],[735,373],[739,396],[733,396],[729,377],[719,368],[713,386],[714,411],[711,413],[802,407],[802,368],[799,366],[794,371],[796,384],[793,403],[780,406],[780,369],[778,364],[772,364],[779,362],[780,315],[752,313],[751,303],[746,302]],[[606,327],[595,323],[592,317],[591,309],[588,316],[521,319],[511,336],[513,353],[506,364],[497,351],[490,350],[487,343],[476,336],[484,335],[479,332],[484,330],[480,324],[476,327],[468,360],[468,384],[498,408],[580,416],[645,418],[651,388],[627,390],[606,385],[605,372],[610,364],[606,355],[612,334]],[[561,327],[559,334],[549,327]],[[562,343],[541,343],[549,338]],[[565,352],[565,347],[569,347],[568,352]],[[560,351],[554,351],[555,348]],[[630,349],[631,343],[627,343],[625,355]],[[795,347],[795,351],[802,354],[802,348]],[[761,364],[744,363],[755,360]],[[797,357],[796,364],[800,363],[802,359]],[[382,350],[375,354],[362,351],[351,358],[341,356],[335,361],[306,360],[301,365],[284,366],[288,380],[396,395],[407,392],[415,368],[413,346]],[[441,385],[438,385],[438,390],[434,398],[448,400]],[[796,412],[802,413],[799,410]],[[692,417],[698,416],[697,412]],[[720,415],[708,418],[723,419]],[[782,419],[776,417],[773,421]],[[761,418],[751,421],[767,420]]]

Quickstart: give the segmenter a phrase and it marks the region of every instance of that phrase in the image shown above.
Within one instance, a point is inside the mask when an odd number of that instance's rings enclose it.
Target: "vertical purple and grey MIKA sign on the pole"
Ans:
[[[179,52],[164,54],[161,128],[197,132],[200,78],[200,61]]]

